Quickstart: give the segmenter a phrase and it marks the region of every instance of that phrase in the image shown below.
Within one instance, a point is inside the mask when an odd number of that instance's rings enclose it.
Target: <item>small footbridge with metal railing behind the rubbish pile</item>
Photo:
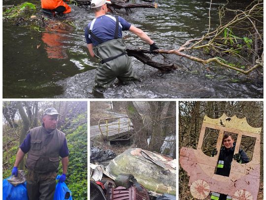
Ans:
[[[100,133],[102,136],[116,135],[133,129],[132,122],[129,117],[114,117],[100,119],[98,122]]]

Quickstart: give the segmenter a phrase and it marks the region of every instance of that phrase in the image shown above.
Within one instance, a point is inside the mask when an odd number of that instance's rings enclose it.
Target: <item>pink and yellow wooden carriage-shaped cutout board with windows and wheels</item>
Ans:
[[[209,157],[201,151],[206,127],[219,130],[216,144],[217,155]],[[197,149],[182,147],[179,162],[190,176],[189,186],[193,197],[205,199],[209,193],[217,192],[232,196],[233,200],[257,200],[260,183],[261,129],[251,127],[246,118],[228,117],[218,119],[204,116]],[[242,136],[256,138],[252,160],[246,164],[232,162],[229,177],[214,174],[221,149],[224,132],[237,134],[235,152],[238,152]]]

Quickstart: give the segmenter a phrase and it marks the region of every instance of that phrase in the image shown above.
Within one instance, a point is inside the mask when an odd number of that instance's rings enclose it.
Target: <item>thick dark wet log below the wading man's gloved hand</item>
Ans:
[[[143,62],[144,64],[150,65],[161,71],[169,72],[169,71],[177,69],[177,65],[175,64],[163,64],[163,63],[153,61],[150,57],[145,55],[145,54],[151,54],[151,52],[148,50],[127,49],[126,51],[130,57],[135,57],[136,59]]]

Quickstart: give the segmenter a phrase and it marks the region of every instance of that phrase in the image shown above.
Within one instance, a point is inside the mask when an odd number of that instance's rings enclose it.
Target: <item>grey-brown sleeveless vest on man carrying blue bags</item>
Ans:
[[[48,133],[43,126],[30,130],[31,148],[28,152],[26,166],[38,173],[57,171],[59,167],[59,151],[65,134],[58,129]]]

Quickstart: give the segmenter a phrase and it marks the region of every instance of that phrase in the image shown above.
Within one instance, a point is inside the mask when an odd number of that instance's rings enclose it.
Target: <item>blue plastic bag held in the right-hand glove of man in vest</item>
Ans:
[[[60,175],[57,175],[56,179],[59,180],[59,178]],[[54,200],[72,200],[71,191],[68,189],[65,182],[61,183],[58,181]]]

